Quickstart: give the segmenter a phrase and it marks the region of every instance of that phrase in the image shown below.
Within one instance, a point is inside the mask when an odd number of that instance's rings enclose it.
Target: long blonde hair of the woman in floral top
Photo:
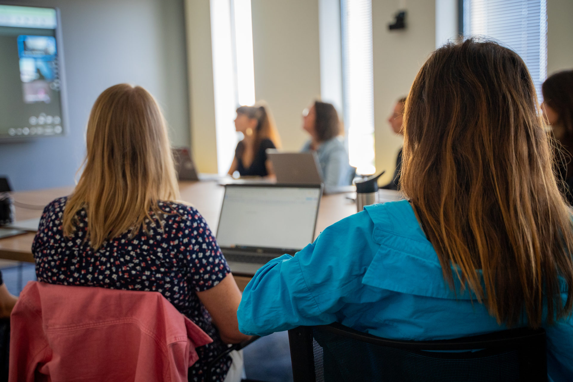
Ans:
[[[176,200],[179,188],[166,123],[155,99],[140,86],[120,83],[97,97],[87,127],[85,168],[63,217],[65,236],[85,209],[94,249],[131,229],[147,229],[162,211],[159,200]]]

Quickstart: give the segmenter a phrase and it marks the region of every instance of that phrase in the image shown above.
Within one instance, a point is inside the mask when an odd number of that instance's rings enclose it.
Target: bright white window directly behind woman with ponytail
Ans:
[[[225,174],[238,140],[233,123],[235,110],[255,101],[251,3],[210,1],[217,170]]]

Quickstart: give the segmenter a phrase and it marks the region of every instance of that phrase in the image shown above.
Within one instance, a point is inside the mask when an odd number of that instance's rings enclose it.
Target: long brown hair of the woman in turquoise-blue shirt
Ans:
[[[404,126],[402,190],[450,287],[455,274],[510,327],[539,327],[544,305],[549,323],[569,315],[571,212],[519,55],[477,39],[434,51],[408,94]]]

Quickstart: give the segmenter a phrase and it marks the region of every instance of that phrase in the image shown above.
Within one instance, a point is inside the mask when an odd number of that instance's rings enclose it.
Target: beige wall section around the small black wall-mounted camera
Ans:
[[[388,116],[399,97],[406,95],[427,55],[435,49],[435,2],[409,0],[405,30],[388,30],[398,2],[372,1],[374,49],[374,126],[376,171],[386,170],[381,184],[390,181],[402,138],[388,126]]]

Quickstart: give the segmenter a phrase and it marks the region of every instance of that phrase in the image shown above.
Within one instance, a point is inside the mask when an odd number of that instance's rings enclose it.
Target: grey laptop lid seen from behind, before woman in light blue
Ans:
[[[266,156],[273,164],[277,183],[320,184],[322,170],[316,152],[279,153],[277,150],[266,150]]]

